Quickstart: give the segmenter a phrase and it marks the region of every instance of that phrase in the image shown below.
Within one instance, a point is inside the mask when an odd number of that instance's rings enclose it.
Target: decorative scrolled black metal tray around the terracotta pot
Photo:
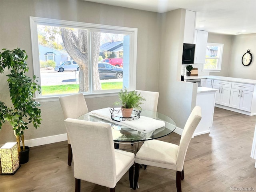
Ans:
[[[141,110],[139,111],[136,111],[136,110],[132,110],[132,115],[131,117],[123,117],[122,116],[122,112],[121,112],[121,109],[110,109],[110,113],[111,113],[111,119],[114,120],[114,121],[134,121],[134,120],[137,120],[140,118],[140,112]]]

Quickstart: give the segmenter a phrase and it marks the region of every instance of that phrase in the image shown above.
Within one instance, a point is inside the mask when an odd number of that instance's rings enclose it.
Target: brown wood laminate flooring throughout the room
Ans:
[[[232,187],[256,191],[255,160],[250,158],[255,123],[256,116],[215,108],[210,134],[192,138],[188,147],[182,191],[228,192]],[[180,135],[172,133],[160,140],[179,144]],[[13,176],[0,176],[0,192],[74,192],[73,162],[68,166],[67,160],[66,141],[32,147],[28,163]],[[148,166],[140,170],[140,188],[136,191],[175,192],[175,179],[174,170]],[[106,191],[106,187],[81,181],[81,192]],[[134,192],[128,173],[117,183],[116,192]]]

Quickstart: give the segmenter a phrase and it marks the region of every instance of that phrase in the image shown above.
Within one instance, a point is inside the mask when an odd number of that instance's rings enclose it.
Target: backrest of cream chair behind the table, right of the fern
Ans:
[[[136,91],[140,93],[140,96],[146,99],[146,101],[143,101],[143,104],[141,104],[140,107],[144,110],[150,110],[150,111],[156,112],[159,93],[153,92],[153,91],[142,91],[142,90],[136,90]]]

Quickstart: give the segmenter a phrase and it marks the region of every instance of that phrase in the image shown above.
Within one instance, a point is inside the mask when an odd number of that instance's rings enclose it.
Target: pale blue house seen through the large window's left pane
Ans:
[[[39,48],[39,60],[54,60],[56,65],[62,64],[63,61],[71,60],[68,53],[60,52],[56,49],[38,45]]]

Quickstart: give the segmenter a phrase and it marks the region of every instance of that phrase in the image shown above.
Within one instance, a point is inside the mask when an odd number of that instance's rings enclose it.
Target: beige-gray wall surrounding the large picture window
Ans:
[[[160,22],[155,12],[147,12],[86,1],[1,0],[0,48],[20,47],[28,54],[29,76],[33,74],[30,16],[138,28],[136,89],[158,91]],[[0,100],[10,104],[6,74],[0,75]],[[86,98],[89,110],[109,107],[117,96]],[[41,102],[42,125],[25,132],[25,140],[66,133],[64,116],[58,101]],[[0,144],[15,141],[5,124]]]

